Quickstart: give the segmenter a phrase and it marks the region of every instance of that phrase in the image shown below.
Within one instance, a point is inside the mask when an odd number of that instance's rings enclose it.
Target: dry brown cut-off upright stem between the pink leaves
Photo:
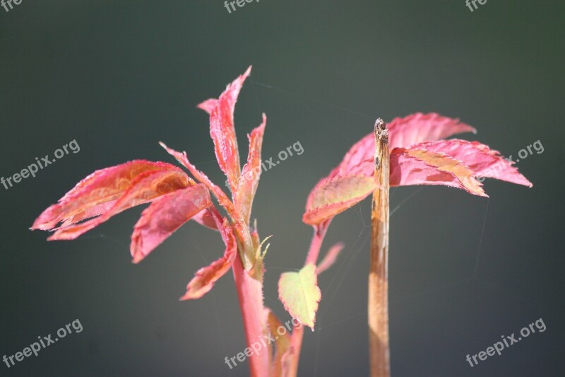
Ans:
[[[371,211],[371,262],[369,267],[369,360],[371,377],[391,375],[388,342],[388,129],[375,122],[375,179]]]

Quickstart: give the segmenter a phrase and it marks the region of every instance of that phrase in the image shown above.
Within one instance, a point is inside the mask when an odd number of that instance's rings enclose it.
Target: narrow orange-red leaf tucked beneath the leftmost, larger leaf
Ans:
[[[176,168],[175,168],[176,169]],[[59,228],[48,240],[73,240],[81,234],[107,221],[121,211],[138,204],[151,202],[156,197],[191,185],[189,177],[182,170],[148,171],[138,175],[116,201],[111,209],[102,216],[73,226]]]

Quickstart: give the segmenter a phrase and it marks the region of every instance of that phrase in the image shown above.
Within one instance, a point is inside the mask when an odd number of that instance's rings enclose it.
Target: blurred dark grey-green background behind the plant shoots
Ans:
[[[0,356],[72,320],[83,325],[1,376],[246,376],[225,356],[245,348],[231,275],[198,301],[179,302],[194,272],[222,253],[193,222],[140,265],[129,236],[142,208],[72,242],[28,230],[93,170],[134,158],[174,162],[157,141],[189,152],[215,182],[208,117],[247,66],[236,124],[266,112],[264,158],[297,141],[261,178],[253,216],[273,235],[266,305],[282,272],[302,266],[309,190],[376,117],[440,112],[477,127],[518,163],[528,189],[487,180],[489,199],[446,187],[395,188],[391,197],[393,376],[563,376],[564,36],[562,1],[263,0],[227,13],[221,0],[29,1],[0,8],[0,175],[76,139],[64,156],[9,190],[0,187]],[[301,376],[367,376],[370,199],[338,216],[323,249],[346,248],[320,278],[316,331]],[[400,206],[400,207],[398,207]],[[398,208],[397,208],[398,207]],[[501,335],[542,318],[536,332],[470,367]]]

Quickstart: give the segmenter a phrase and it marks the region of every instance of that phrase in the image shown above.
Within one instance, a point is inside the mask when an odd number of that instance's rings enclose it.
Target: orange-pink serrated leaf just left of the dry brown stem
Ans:
[[[338,175],[321,180],[310,192],[302,221],[317,225],[332,219],[336,214],[361,202],[376,186],[372,176],[364,175]]]

